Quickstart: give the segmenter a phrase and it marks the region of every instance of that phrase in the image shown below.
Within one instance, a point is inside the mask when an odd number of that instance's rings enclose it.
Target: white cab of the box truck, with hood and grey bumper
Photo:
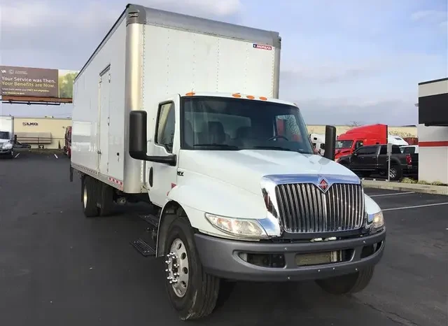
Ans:
[[[156,255],[174,302],[204,277],[209,290],[220,278],[316,279],[332,293],[370,281],[384,248],[381,209],[358,176],[314,155],[294,104],[179,94],[130,113],[129,148],[160,207]],[[189,278],[198,268],[206,274]]]

